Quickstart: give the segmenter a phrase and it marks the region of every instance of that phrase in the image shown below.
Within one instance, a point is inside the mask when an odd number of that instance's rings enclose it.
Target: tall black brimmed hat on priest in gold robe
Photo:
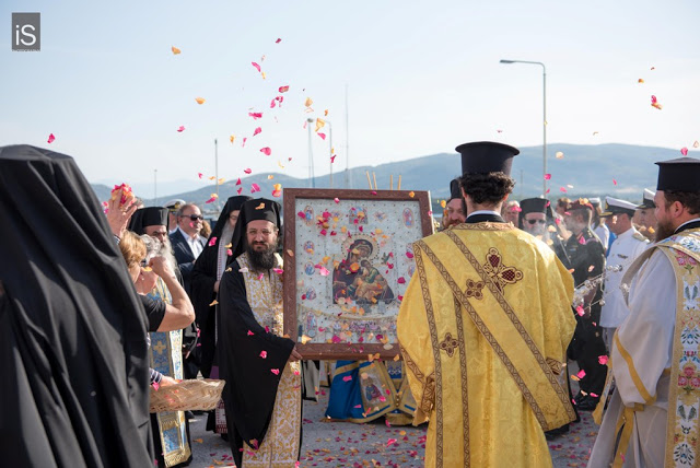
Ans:
[[[462,154],[462,174],[503,173],[511,175],[513,157],[517,148],[493,141],[476,141],[455,148]]]

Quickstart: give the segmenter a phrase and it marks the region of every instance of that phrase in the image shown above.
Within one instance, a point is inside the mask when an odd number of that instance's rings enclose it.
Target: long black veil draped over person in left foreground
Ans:
[[[7,466],[153,465],[147,317],[72,157],[0,148]]]

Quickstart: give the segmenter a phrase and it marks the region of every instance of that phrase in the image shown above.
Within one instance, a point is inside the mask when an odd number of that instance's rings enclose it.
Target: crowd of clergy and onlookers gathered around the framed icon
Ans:
[[[594,411],[590,466],[697,463],[700,160],[657,163],[640,203],[518,202],[517,149],[456,150],[441,227],[413,244],[402,363],[337,363],[328,417],[429,422],[430,467],[540,467],[547,438]],[[103,213],[71,157],[15,145],[0,208],[11,466],[185,466],[188,414],[149,421],[149,391],[200,376],[226,383],[208,429],[236,466],[295,466],[319,365],[283,332],[279,203],[231,197],[203,232],[197,204],[143,207],[122,187]],[[380,382],[396,398],[370,412]]]

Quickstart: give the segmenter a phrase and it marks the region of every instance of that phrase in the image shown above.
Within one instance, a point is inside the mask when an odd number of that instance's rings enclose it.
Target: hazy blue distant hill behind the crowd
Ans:
[[[656,184],[656,166],[654,162],[679,157],[678,150],[655,147],[637,147],[630,144],[563,144],[550,143],[547,145],[549,198],[591,197],[610,195],[630,201],[640,201],[642,190],[654,188]],[[521,154],[513,161],[512,176],[516,180],[513,197],[515,199],[536,197],[541,194],[542,187],[542,156],[541,147],[526,147],[521,149]],[[562,152],[563,157],[557,159],[557,152]],[[365,172],[376,175],[380,189],[389,188],[389,177],[394,175],[394,188],[397,188],[398,176],[401,175],[401,189],[430,190],[433,202],[448,197],[450,180],[459,175],[460,160],[458,154],[433,154],[395,163],[380,164],[377,166],[361,166],[334,174],[334,187],[368,189]],[[219,186],[219,199],[223,201],[236,195],[236,189],[243,187],[243,194],[250,195],[250,185],[258,184],[261,191],[256,196],[271,197],[272,185],[281,184],[283,188],[311,187],[308,179],[290,177],[285,174],[271,173],[273,179],[268,179],[268,174],[256,174],[242,179],[242,185],[236,186],[236,180],[228,180]],[[328,175],[316,177],[316,188],[328,188],[330,183]],[[617,183],[617,185],[614,183]],[[348,183],[346,182],[348,180]],[[521,183],[522,180],[522,183]],[[568,187],[573,186],[573,188]],[[567,192],[560,190],[563,187]],[[106,200],[110,187],[93,185],[100,200]],[[184,191],[159,198],[158,204],[165,199],[182,198],[192,201],[205,208],[218,208],[214,203],[205,206],[211,194],[215,191],[213,185],[197,190]],[[137,194],[139,195],[139,194]],[[155,200],[144,199],[145,204],[154,204]],[[207,210],[210,211],[210,210]]]

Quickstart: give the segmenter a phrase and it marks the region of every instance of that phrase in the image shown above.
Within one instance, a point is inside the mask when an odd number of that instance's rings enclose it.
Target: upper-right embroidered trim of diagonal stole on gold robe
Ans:
[[[462,224],[459,226],[462,226]],[[557,376],[553,374],[553,372],[549,367],[549,364],[547,363],[547,361],[542,356],[541,352],[539,351],[539,349],[537,348],[537,346],[533,341],[533,338],[529,336],[529,334],[527,332],[527,330],[525,329],[525,327],[523,326],[521,320],[517,318],[517,315],[515,315],[515,312],[513,312],[513,308],[511,307],[511,305],[505,301],[505,297],[503,296],[502,290],[497,288],[494,282],[488,281],[489,276],[486,274],[486,272],[482,270],[481,265],[479,264],[479,261],[471,254],[471,251],[469,251],[469,249],[462,242],[462,239],[456,234],[454,234],[452,232],[445,231],[445,233],[457,245],[457,247],[459,247],[459,250],[469,260],[469,262],[471,264],[474,269],[477,270],[477,272],[479,273],[481,279],[483,279],[486,281],[487,286],[489,288],[489,290],[491,291],[493,296],[498,300],[499,304],[503,308],[503,312],[505,312],[505,315],[508,315],[508,317],[511,319],[511,321],[515,326],[515,329],[520,332],[521,337],[523,337],[523,340],[527,344],[527,348],[533,352],[533,355],[537,360],[537,363],[539,364],[539,367],[545,373],[545,375],[547,376],[547,379],[549,381],[549,383],[551,384],[552,388],[557,393],[557,396],[559,397],[560,402],[563,405],[563,407],[564,407],[564,409],[567,411],[567,414],[570,418],[570,420],[573,421],[574,419],[576,419],[576,413],[574,412],[573,407],[571,406],[571,401],[569,401],[569,393],[564,391],[563,387],[557,381]],[[452,283],[454,283],[454,281],[452,281]],[[457,290],[458,291],[458,288],[456,288],[456,284],[455,284],[455,288],[453,288],[453,290]],[[465,297],[465,300],[466,300],[466,297]],[[506,365],[506,367],[508,367],[508,365]],[[513,377],[515,378],[515,376],[513,376]],[[520,376],[518,376],[518,378],[520,378]],[[517,379],[516,379],[516,382],[517,382]],[[527,397],[525,397],[525,399],[529,402]],[[534,401],[534,399],[533,399],[533,401]],[[539,421],[539,419],[538,419],[538,421]],[[542,421],[544,421],[544,419],[540,421],[540,424],[542,423]],[[547,429],[545,429],[545,431],[547,431]]]

